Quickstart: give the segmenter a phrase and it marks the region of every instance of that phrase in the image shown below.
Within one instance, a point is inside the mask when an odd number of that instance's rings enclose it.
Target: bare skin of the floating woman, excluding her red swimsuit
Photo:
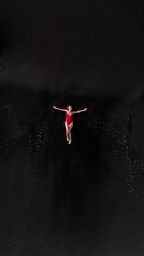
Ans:
[[[82,110],[77,110],[77,111],[73,111],[72,112],[72,107],[71,106],[68,106],[67,109],[62,109],[62,108],[57,108],[55,106],[53,106],[53,108],[57,109],[57,110],[61,110],[61,111],[64,111],[64,112],[67,112],[68,115],[72,115],[72,114],[77,114],[77,113],[81,113],[83,111],[86,111],[87,108],[84,108]],[[66,129],[66,135],[67,135],[67,141],[69,142],[69,144],[71,143],[71,129],[73,128],[73,122],[68,125],[67,121],[65,121],[65,129]]]

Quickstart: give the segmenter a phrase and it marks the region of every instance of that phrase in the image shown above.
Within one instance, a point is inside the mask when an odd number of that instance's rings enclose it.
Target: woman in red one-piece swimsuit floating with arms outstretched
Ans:
[[[84,108],[83,110],[73,111],[73,112],[71,111],[72,110],[71,106],[68,106],[67,109],[56,108],[55,106],[53,106],[53,108],[67,112],[66,120],[65,120],[65,128],[66,128],[67,141],[70,144],[71,143],[71,132],[70,131],[73,127],[73,114],[86,111],[87,108]]]

